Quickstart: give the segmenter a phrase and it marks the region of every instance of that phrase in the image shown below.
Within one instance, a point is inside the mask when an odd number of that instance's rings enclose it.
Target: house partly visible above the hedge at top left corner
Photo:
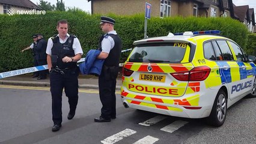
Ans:
[[[41,10],[41,8],[29,0],[0,0],[0,14],[17,13],[22,10]]]

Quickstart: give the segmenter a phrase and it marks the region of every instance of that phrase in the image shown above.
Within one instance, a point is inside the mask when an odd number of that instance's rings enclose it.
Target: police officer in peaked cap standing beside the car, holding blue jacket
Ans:
[[[115,20],[110,17],[101,17],[100,28],[105,33],[99,41],[100,55],[98,59],[105,59],[102,73],[99,76],[100,101],[102,102],[101,115],[94,118],[95,122],[110,122],[116,118],[115,86],[117,83],[118,67],[121,55],[121,38],[114,31]]]

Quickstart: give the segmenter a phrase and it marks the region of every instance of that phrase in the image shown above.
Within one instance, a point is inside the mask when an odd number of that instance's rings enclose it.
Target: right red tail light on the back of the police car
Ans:
[[[209,67],[195,67],[190,71],[182,71],[178,73],[171,73],[171,75],[180,81],[201,81],[205,80],[209,74],[211,69]]]

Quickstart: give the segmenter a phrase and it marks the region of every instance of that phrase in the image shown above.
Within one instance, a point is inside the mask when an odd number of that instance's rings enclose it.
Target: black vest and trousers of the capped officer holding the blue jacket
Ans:
[[[110,50],[108,58],[103,64],[102,73],[99,76],[100,101],[102,102],[101,116],[104,119],[115,118],[115,86],[119,69],[121,55],[121,38],[115,34],[106,34],[100,38],[99,50],[102,50],[103,38],[112,37],[115,41],[114,47]]]

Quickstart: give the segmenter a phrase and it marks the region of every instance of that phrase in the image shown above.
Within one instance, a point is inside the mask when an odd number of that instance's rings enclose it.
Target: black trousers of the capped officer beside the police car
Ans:
[[[118,71],[117,71],[118,73]],[[106,76],[111,74],[110,76]],[[105,119],[111,119],[116,116],[116,98],[115,86],[117,84],[117,74],[110,71],[102,71],[99,76],[100,101],[102,102],[101,116]]]

